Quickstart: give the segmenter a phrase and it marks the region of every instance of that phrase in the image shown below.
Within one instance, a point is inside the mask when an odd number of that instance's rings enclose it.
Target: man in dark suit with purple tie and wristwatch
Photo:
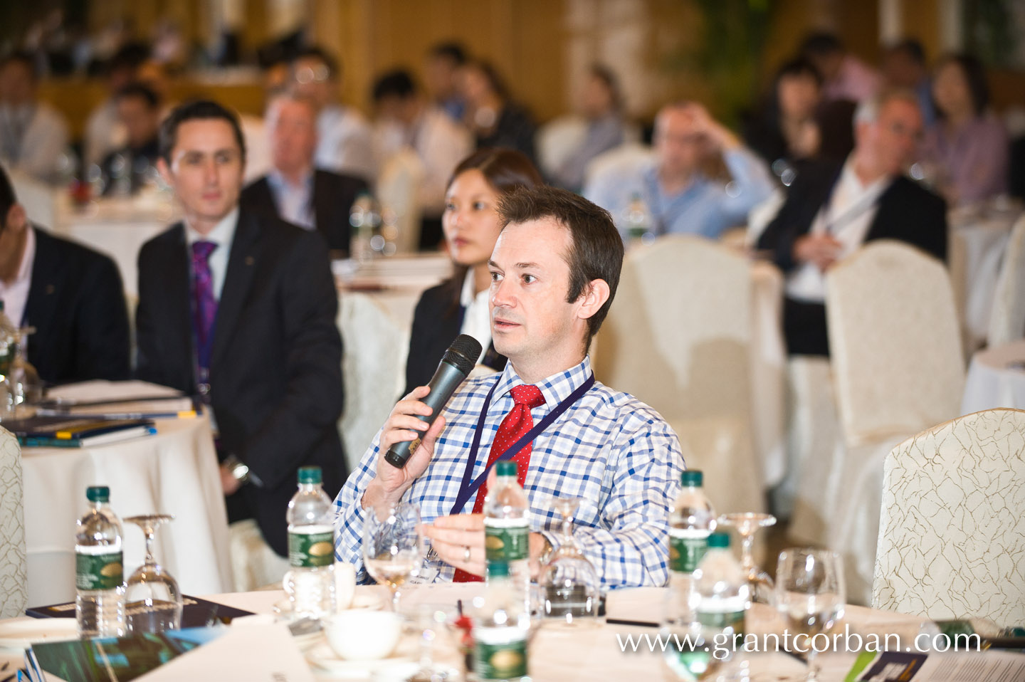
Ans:
[[[239,208],[245,147],[238,119],[220,105],[175,109],[161,127],[160,152],[158,168],[184,220],[139,251],[137,373],[204,397],[219,433],[229,520],[255,518],[285,556],[297,469],[319,466],[329,495],[345,473],[327,247]]]

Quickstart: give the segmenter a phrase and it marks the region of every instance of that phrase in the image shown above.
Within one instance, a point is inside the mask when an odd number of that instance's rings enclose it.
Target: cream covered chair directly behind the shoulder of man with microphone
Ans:
[[[723,512],[762,511],[751,417],[751,275],[714,242],[670,235],[631,249],[599,334],[594,374],[654,407]]]

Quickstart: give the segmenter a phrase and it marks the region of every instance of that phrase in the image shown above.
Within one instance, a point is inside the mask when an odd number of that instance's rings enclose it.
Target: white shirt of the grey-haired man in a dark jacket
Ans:
[[[865,235],[868,234],[868,228],[879,207],[879,195],[890,187],[893,179],[886,175],[869,185],[863,185],[854,170],[853,158],[849,158],[832,195],[812,222],[809,234],[828,234],[838,241],[840,249],[836,255],[837,260],[851,255],[865,241]],[[809,303],[825,302],[825,273],[814,263],[798,266],[787,277],[786,295]]]

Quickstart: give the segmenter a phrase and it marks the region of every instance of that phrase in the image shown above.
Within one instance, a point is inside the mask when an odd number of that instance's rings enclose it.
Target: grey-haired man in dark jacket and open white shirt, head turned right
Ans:
[[[803,170],[758,239],[786,274],[783,331],[791,355],[829,355],[824,275],[864,242],[896,239],[946,259],[943,200],[902,174],[920,134],[913,92],[866,99],[847,162]]]

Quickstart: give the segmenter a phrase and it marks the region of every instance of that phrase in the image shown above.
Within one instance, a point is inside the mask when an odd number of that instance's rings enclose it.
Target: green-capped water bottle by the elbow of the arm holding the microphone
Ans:
[[[320,467],[299,468],[299,489],[288,503],[285,592],[295,619],[334,613],[334,526]]]

